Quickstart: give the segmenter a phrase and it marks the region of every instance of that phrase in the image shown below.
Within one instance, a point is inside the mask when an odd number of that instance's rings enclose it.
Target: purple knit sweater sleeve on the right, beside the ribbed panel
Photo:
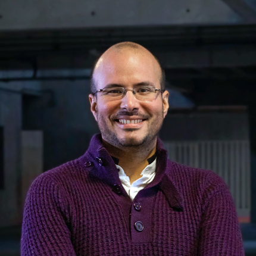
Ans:
[[[232,196],[223,180],[212,172],[202,197],[198,255],[245,255]]]

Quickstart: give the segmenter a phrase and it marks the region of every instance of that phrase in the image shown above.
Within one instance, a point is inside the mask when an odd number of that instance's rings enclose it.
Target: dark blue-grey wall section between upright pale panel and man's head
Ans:
[[[83,155],[98,125],[90,113],[89,80],[45,82],[55,92],[55,106],[43,113],[45,170]]]

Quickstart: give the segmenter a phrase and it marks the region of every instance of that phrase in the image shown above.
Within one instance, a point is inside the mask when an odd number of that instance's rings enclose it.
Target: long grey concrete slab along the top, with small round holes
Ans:
[[[241,18],[220,0],[8,0],[0,2],[0,30],[170,24],[234,24]]]

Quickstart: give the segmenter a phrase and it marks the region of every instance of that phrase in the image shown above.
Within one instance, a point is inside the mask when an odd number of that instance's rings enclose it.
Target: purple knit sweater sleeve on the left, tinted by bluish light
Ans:
[[[24,207],[21,256],[76,255],[62,205],[60,189],[46,173],[32,183]]]

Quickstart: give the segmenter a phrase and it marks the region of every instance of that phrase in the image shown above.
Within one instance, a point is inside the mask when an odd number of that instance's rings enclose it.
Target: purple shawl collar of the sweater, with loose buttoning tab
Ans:
[[[149,183],[142,191],[142,195],[146,196],[148,189],[158,186],[167,198],[170,207],[182,211],[183,198],[174,183],[171,180],[173,172],[173,162],[168,160],[167,151],[164,149],[163,142],[157,139],[157,169],[154,180]],[[85,155],[79,158],[80,163],[85,167],[85,164],[90,161],[92,164],[89,167],[89,173],[101,179],[110,186],[121,185],[118,177],[118,169],[115,166],[114,160],[107,149],[102,145],[101,134],[94,135],[90,141],[88,151]],[[88,169],[88,167],[85,167]],[[123,187],[123,186],[122,186]]]

